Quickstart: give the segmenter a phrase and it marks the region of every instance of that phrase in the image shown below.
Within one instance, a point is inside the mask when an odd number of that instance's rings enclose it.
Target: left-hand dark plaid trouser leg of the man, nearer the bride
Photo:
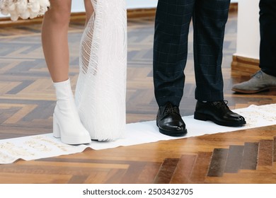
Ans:
[[[154,93],[159,106],[183,96],[194,0],[159,0],[154,33]]]

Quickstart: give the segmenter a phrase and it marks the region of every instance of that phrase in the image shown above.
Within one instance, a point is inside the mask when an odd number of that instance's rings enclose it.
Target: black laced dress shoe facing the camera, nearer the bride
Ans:
[[[168,136],[183,136],[187,134],[186,125],[180,116],[178,106],[171,103],[159,107],[156,124],[161,134]]]

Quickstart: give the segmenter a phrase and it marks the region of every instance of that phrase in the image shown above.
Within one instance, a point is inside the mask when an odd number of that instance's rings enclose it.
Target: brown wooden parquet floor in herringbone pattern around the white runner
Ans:
[[[226,25],[224,95],[231,109],[276,103],[276,90],[253,95],[231,91],[251,74],[231,70],[236,13]],[[79,72],[83,21],[69,30],[70,78]],[[152,83],[154,18],[128,21],[127,123],[155,120]],[[52,132],[52,81],[40,44],[40,24],[0,29],[0,139]],[[180,111],[192,115],[195,77],[189,35],[185,92]],[[1,149],[1,146],[0,146]],[[276,125],[150,144],[86,149],[82,153],[0,165],[0,183],[276,183]]]

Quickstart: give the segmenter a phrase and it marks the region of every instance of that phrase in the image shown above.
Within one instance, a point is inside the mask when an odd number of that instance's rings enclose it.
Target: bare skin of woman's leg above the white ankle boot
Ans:
[[[42,23],[42,47],[52,81],[69,78],[68,28],[71,0],[52,0]]]

